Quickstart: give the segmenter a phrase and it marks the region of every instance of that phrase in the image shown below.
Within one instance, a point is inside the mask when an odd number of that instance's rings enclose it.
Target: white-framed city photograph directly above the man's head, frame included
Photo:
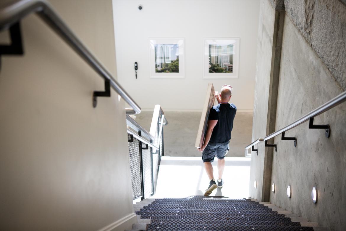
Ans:
[[[238,79],[239,38],[204,38],[204,79]]]

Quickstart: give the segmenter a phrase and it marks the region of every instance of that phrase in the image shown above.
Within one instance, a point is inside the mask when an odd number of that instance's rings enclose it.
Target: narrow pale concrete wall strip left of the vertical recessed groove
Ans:
[[[258,25],[257,56],[256,56],[256,85],[254,96],[254,114],[252,127],[252,142],[258,137],[264,137],[267,130],[267,112],[269,100],[270,72],[272,63],[272,47],[274,35],[275,10],[269,1],[261,1],[260,23]],[[247,144],[248,145],[248,144]],[[245,146],[247,146],[245,145]],[[244,148],[245,148],[244,146]],[[255,148],[264,150],[264,143],[259,143]],[[261,198],[262,190],[258,187],[263,181],[264,155],[256,156],[252,152],[251,173],[250,173],[250,196]],[[253,182],[257,181],[257,190],[253,187]]]

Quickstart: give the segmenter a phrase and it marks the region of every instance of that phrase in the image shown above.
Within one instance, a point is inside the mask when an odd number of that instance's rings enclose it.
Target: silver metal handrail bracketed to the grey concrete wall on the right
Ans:
[[[344,101],[346,101],[346,91],[344,91],[343,93],[341,93],[340,95],[334,97],[333,99],[329,100],[327,103],[319,106],[318,108],[316,108],[315,110],[312,110],[311,112],[309,112],[308,114],[304,115],[303,117],[297,119],[296,121],[294,121],[293,123],[281,128],[280,130],[277,130],[276,132],[273,132],[270,135],[267,135],[264,138],[258,138],[256,141],[252,142],[251,144],[247,145],[245,148],[245,156],[248,156],[247,150],[249,148],[251,148],[253,145],[261,142],[261,141],[267,141],[283,132],[286,132],[288,130],[291,130],[294,127],[297,127],[298,125],[308,121],[310,118],[313,118],[315,116],[318,116],[324,112],[326,112],[327,110],[343,103]]]

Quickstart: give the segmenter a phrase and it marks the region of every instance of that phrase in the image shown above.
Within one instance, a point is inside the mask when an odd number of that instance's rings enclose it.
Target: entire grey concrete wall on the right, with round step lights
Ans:
[[[282,8],[275,2],[279,1],[262,1],[259,43],[263,41],[261,25],[273,28],[275,21],[271,15],[275,9]],[[321,0],[285,1],[284,8],[286,13],[275,130],[292,123],[345,90],[343,55],[346,53],[346,7],[339,1]],[[328,14],[326,9],[329,10]],[[263,14],[269,17],[261,17]],[[267,105],[271,88],[265,88],[269,81],[266,68],[271,66],[268,56],[273,54],[270,53],[269,45],[261,44],[257,52],[257,66],[261,65],[261,69],[257,67],[256,70],[253,140],[268,135],[265,116],[270,114]],[[323,47],[323,52],[319,50],[320,47]],[[262,98],[258,96],[257,89],[262,90]],[[308,217],[309,221],[318,222],[320,226],[328,226],[331,230],[346,229],[343,217],[346,212],[346,200],[343,197],[346,189],[345,117],[344,103],[315,118],[315,124],[331,126],[329,139],[325,137],[324,130],[309,130],[308,123],[286,132],[286,136],[297,137],[296,148],[293,141],[282,141],[280,136],[275,137],[277,152],[273,152],[273,160],[267,160],[272,161],[271,183],[275,183],[275,193],[270,193],[270,202]],[[263,182],[258,178],[262,179],[266,173],[263,159],[270,149],[273,148],[265,148],[260,143],[258,156],[252,152],[250,196],[258,200],[263,199]],[[253,187],[255,179],[256,189]],[[286,195],[288,185],[292,188],[291,198]],[[318,190],[317,204],[311,200],[313,186]]]

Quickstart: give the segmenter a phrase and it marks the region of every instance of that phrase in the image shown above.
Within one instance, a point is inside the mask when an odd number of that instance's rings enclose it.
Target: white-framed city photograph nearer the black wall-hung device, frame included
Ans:
[[[185,78],[184,38],[149,38],[150,78]]]

